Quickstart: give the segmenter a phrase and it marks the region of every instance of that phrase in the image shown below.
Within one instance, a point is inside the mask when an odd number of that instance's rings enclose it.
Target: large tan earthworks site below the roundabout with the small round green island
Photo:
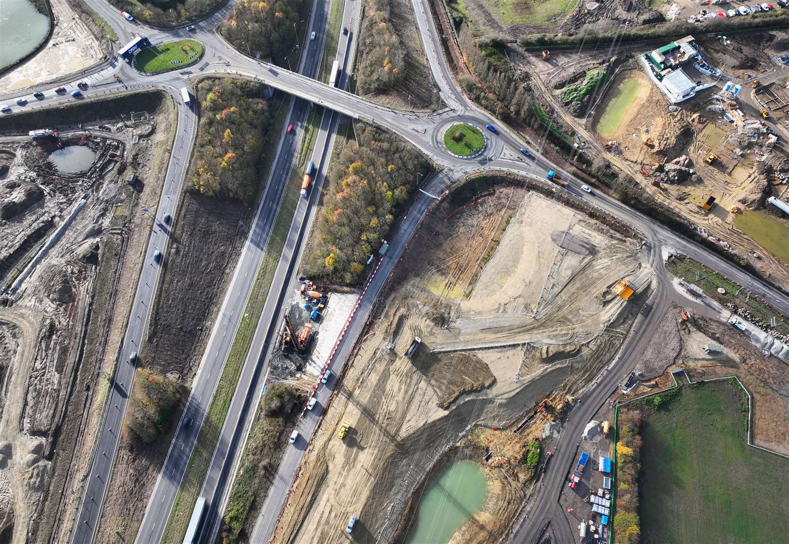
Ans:
[[[458,542],[504,538],[529,448],[611,361],[653,277],[638,242],[507,184],[456,189],[397,269],[275,542],[335,542],[351,515],[360,542],[406,541],[421,493],[462,460],[481,467],[487,500]]]

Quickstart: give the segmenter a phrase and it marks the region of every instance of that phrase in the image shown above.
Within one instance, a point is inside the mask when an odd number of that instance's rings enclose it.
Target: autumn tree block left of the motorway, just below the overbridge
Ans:
[[[211,197],[252,201],[259,189],[257,163],[271,124],[265,85],[208,79],[197,87],[197,126],[191,173],[193,187]]]

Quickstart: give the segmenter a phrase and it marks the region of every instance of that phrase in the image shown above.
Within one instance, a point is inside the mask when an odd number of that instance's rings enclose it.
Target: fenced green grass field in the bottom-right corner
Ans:
[[[787,542],[789,460],[747,445],[739,385],[686,385],[646,410],[642,544]]]

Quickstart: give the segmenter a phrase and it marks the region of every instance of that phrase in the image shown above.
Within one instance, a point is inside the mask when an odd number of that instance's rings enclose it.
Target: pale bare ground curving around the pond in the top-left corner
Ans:
[[[0,93],[52,81],[92,66],[104,57],[99,40],[68,0],[50,2],[55,18],[50,42],[35,57],[0,78]]]

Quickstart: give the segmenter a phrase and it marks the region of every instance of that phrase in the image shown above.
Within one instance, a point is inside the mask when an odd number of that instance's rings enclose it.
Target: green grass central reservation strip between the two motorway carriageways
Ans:
[[[284,106],[285,104],[282,105]],[[279,127],[279,131],[269,133],[270,141],[279,141],[280,134],[285,126],[284,122],[287,113],[287,107],[279,109],[274,121],[275,124],[272,125]],[[274,158],[273,153],[268,157],[263,178],[268,178],[268,171],[271,170]],[[170,511],[170,518],[167,520],[162,542],[181,542],[186,534],[186,527],[189,524],[197,496],[200,494],[205,475],[208,472],[208,463],[211,462],[211,456],[219,439],[219,432],[222,430],[222,424],[225,422],[238,376],[241,374],[241,368],[244,366],[249,346],[252,344],[252,335],[255,332],[257,321],[260,319],[260,313],[263,312],[266,295],[271,287],[271,281],[274,279],[274,272],[279,262],[279,255],[285,246],[285,238],[290,227],[290,221],[293,219],[300,190],[300,172],[294,169],[280,206],[279,215],[271,231],[271,238],[264,251],[263,260],[256,273],[255,281],[252,283],[252,291],[244,308],[244,316],[241,317],[241,323],[238,325],[236,336],[230,347],[230,353],[227,355],[225,365],[222,367],[222,377],[219,378],[219,384],[217,384],[214,396],[211,398],[203,426],[200,428],[200,434],[197,435],[192,456],[189,458],[189,464],[186,466],[184,477],[181,480],[181,488],[178,490],[178,495],[175,497],[173,508]]]

